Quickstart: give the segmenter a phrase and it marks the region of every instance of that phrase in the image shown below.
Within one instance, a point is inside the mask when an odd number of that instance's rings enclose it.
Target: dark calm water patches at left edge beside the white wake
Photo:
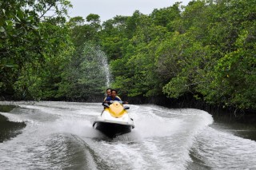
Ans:
[[[9,113],[14,108],[14,105],[0,105],[0,112]],[[0,114],[0,143],[17,136],[21,133],[21,129],[25,127],[26,124],[24,122],[8,121],[6,117]]]

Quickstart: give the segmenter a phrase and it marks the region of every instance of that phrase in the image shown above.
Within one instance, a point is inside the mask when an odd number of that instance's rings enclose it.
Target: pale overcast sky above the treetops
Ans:
[[[154,9],[172,6],[175,2],[187,5],[190,0],[70,0],[73,8],[69,10],[70,17],[88,14],[98,14],[102,22],[116,15],[131,16],[135,10],[142,14],[150,14]]]

